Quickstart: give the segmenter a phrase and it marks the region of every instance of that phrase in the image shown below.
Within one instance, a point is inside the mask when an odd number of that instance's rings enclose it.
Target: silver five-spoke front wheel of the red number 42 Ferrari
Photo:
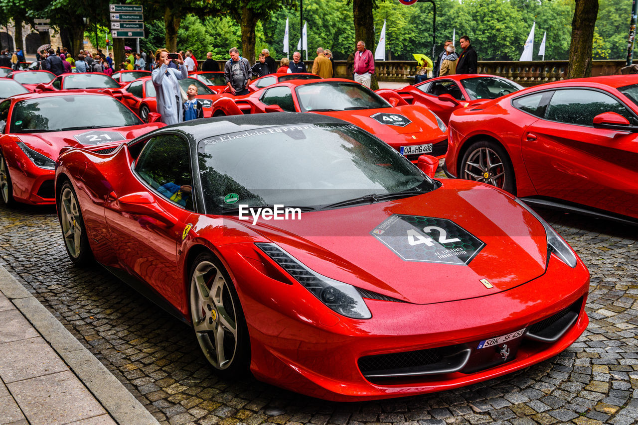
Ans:
[[[191,267],[191,318],[204,357],[224,378],[248,371],[248,328],[237,291],[221,262],[209,252]]]

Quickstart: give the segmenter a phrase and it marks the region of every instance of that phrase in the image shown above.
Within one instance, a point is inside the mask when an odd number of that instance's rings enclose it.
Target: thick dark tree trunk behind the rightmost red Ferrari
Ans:
[[[576,0],[567,78],[591,76],[591,50],[597,16],[598,0]]]

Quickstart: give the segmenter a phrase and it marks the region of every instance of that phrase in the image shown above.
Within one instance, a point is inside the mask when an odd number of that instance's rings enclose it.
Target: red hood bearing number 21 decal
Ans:
[[[14,136],[29,148],[57,161],[60,149],[66,146],[82,148],[94,145],[117,145],[163,126],[165,124],[161,122],[153,122],[151,124],[140,124],[139,126],[51,131],[47,133],[14,134]]]

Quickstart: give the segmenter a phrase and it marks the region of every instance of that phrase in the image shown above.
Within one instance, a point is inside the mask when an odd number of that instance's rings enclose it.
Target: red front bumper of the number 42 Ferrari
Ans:
[[[580,261],[572,269],[556,257],[541,277],[499,294],[433,305],[366,298],[373,314],[366,321],[341,317],[300,285],[264,282],[264,275],[250,269],[235,269],[234,277],[251,338],[251,371],[265,382],[325,400],[401,397],[488,380],[556,356],[588,324],[589,273]],[[492,352],[489,364],[473,370],[378,380],[360,369],[366,356],[454,345],[477,351],[481,340],[529,328],[574,305],[575,321],[556,341],[521,338],[511,357],[498,361]]]

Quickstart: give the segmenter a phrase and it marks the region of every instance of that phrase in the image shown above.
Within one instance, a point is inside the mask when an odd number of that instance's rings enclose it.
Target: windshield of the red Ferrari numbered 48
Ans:
[[[295,91],[299,106],[308,112],[390,108],[381,96],[358,83],[317,82]]]

